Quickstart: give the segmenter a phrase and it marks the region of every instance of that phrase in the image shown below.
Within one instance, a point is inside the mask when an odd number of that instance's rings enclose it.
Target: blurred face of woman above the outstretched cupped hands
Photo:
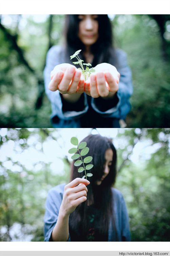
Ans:
[[[78,37],[84,45],[92,45],[98,40],[98,15],[79,14],[79,34]]]

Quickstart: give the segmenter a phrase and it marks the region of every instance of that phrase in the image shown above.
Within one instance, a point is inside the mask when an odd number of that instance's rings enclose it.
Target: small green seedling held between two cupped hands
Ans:
[[[78,61],[75,61],[73,62],[73,64],[79,64],[81,68],[78,68],[82,71],[82,74],[84,75],[85,77],[85,81],[88,79],[88,77],[90,76],[91,73],[94,73],[95,72],[95,69],[94,68],[90,68],[88,66],[91,66],[90,63],[82,63],[84,62],[84,60],[80,59],[78,54],[81,52],[81,50],[78,50],[77,52],[75,52],[72,56],[70,56],[70,59],[73,59],[73,58],[77,58]],[[84,70],[84,67],[83,65],[86,65],[86,69]]]

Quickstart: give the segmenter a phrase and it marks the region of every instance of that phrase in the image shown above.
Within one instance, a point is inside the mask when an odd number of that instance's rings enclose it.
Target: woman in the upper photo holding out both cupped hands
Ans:
[[[65,38],[64,47],[50,48],[44,70],[53,126],[120,127],[130,111],[132,75],[126,54],[112,46],[108,16],[67,15]],[[96,71],[87,81],[70,60],[79,49],[80,59]]]

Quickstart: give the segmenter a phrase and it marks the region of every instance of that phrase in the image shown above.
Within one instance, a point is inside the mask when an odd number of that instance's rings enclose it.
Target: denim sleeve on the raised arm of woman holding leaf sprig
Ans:
[[[44,241],[49,242],[51,240],[51,233],[58,219],[58,213],[62,203],[63,195],[57,190],[51,189],[48,192],[46,200],[46,212],[44,216]],[[70,241],[70,235],[68,242]]]

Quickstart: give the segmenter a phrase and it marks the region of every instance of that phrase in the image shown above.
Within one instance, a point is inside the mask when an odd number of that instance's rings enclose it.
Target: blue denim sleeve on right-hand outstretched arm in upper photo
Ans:
[[[120,73],[119,89],[117,91],[118,103],[111,109],[108,109],[105,112],[100,111],[97,108],[97,105],[94,102],[94,99],[91,99],[92,108],[101,114],[103,117],[114,117],[118,119],[125,119],[126,115],[131,109],[131,104],[129,98],[133,93],[132,85],[132,72],[128,66],[128,61],[126,53],[118,49],[116,55],[119,61],[119,67],[117,68]],[[113,104],[114,105],[114,104]]]

